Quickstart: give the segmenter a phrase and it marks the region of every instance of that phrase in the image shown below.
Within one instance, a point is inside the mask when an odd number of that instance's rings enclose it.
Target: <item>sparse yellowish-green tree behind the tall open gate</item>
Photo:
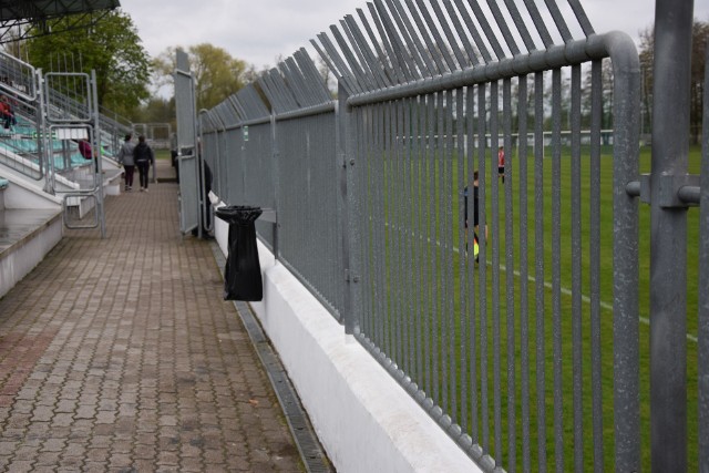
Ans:
[[[154,62],[154,83],[164,86],[173,82],[175,53],[181,48],[168,48]],[[195,78],[197,110],[212,109],[224,102],[246,84],[253,68],[234,59],[222,48],[208,43],[189,47],[189,69]]]

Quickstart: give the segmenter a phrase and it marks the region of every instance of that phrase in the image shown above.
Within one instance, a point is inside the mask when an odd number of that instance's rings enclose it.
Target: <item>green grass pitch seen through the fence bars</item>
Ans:
[[[599,337],[599,350],[600,350],[600,370],[602,370],[602,387],[603,387],[603,412],[600,419],[603,420],[603,457],[604,466],[606,471],[614,471],[614,413],[613,413],[613,158],[609,155],[612,148],[605,148],[600,160],[600,337]],[[561,160],[561,226],[558,228],[559,235],[559,248],[561,258],[558,259],[558,269],[561,278],[561,291],[555,297],[552,290],[553,282],[553,268],[554,257],[552,251],[552,241],[554,235],[554,228],[552,225],[552,210],[553,210],[553,195],[552,195],[552,160],[551,152],[546,151],[546,158],[544,158],[544,184],[543,184],[543,239],[544,239],[544,254],[540,255],[538,261],[535,258],[534,245],[535,245],[535,178],[534,178],[534,161],[533,156],[528,156],[527,172],[525,176],[520,174],[520,163],[515,156],[508,158],[508,163],[512,165],[512,182],[506,183],[504,186],[500,183],[499,195],[500,205],[497,209],[493,209],[490,193],[492,192],[491,178],[496,174],[496,167],[494,174],[491,174],[491,169],[486,169],[486,192],[489,193],[485,199],[485,213],[489,227],[487,237],[487,250],[484,258],[481,261],[486,261],[485,270],[482,271],[480,265],[473,265],[472,259],[462,257],[464,251],[461,249],[464,247],[462,240],[462,229],[459,218],[455,216],[459,214],[459,192],[461,191],[458,183],[464,183],[466,179],[459,178],[460,173],[469,174],[465,164],[459,163],[454,156],[450,160],[441,160],[436,162],[432,167],[417,167],[415,164],[403,164],[403,161],[398,163],[391,163],[391,167],[382,171],[384,175],[399,176],[399,179],[405,182],[405,184],[393,186],[384,191],[379,191],[379,197],[372,198],[372,208],[381,204],[382,222],[388,222],[387,229],[371,230],[369,235],[370,245],[376,245],[373,241],[376,238],[381,238],[383,235],[387,244],[380,245],[380,251],[384,256],[384,270],[381,271],[380,279],[372,285],[387,285],[389,297],[383,305],[379,307],[372,307],[372,313],[374,317],[370,321],[373,325],[379,323],[380,327],[389,327],[389,330],[395,331],[395,333],[389,335],[389,338],[379,340],[378,342],[383,346],[384,350],[393,350],[392,358],[399,360],[399,363],[404,368],[408,367],[408,372],[412,373],[414,381],[424,384],[427,389],[424,373],[421,368],[417,366],[417,362],[408,361],[408,356],[404,353],[405,349],[397,349],[397,343],[392,340],[397,337],[403,337],[404,340],[415,339],[417,333],[424,331],[428,336],[423,336],[423,342],[429,346],[431,350],[436,353],[435,363],[429,368],[432,372],[433,380],[429,382],[428,392],[432,395],[436,403],[444,408],[446,412],[451,413],[454,422],[464,426],[465,431],[473,434],[475,441],[481,443],[487,443],[489,453],[501,461],[503,467],[510,470],[508,464],[514,455],[514,463],[517,470],[523,467],[523,417],[522,417],[522,391],[521,385],[523,381],[523,373],[528,367],[530,376],[530,393],[528,401],[528,436],[530,443],[527,445],[530,451],[532,471],[538,470],[538,455],[546,455],[547,470],[556,467],[556,442],[555,442],[555,381],[561,383],[561,397],[563,399],[563,411],[557,412],[563,417],[562,421],[562,435],[563,435],[563,466],[564,471],[574,470],[574,454],[576,451],[580,452],[582,461],[586,467],[592,467],[596,461],[594,460],[592,425],[594,423],[594,417],[598,418],[598,413],[593,411],[593,398],[590,394],[592,387],[592,327],[590,327],[590,301],[587,296],[590,294],[590,245],[589,245],[589,202],[592,198],[592,191],[589,188],[589,166],[587,153],[584,153],[580,162],[580,222],[582,222],[582,238],[580,238],[580,255],[579,261],[582,284],[580,292],[583,295],[580,299],[580,313],[576,313],[574,317],[574,307],[572,299],[572,166],[571,158],[568,157],[568,150],[563,152]],[[689,156],[689,172],[698,174],[700,167],[700,150],[692,148]],[[640,172],[649,172],[650,150],[643,148],[640,155]],[[401,177],[403,175],[403,178]],[[433,176],[433,177],[431,177]],[[521,275],[521,208],[520,208],[520,184],[521,178],[526,177],[527,183],[527,241],[528,241],[528,274],[527,274],[527,290],[526,302],[522,307],[522,279]],[[386,177],[384,177],[386,178]],[[431,183],[435,183],[434,189],[427,188],[431,186]],[[407,215],[401,215],[401,208],[405,206],[399,206],[393,196],[399,191],[403,189],[407,185],[413,183],[413,189],[409,191],[407,198],[411,199],[413,205],[410,206],[411,210],[404,210]],[[511,184],[512,199],[512,235],[513,235],[513,257],[508,259],[506,257],[506,223],[508,222],[507,214],[510,212],[510,205],[505,199],[505,189]],[[405,191],[404,191],[405,192]],[[450,202],[451,214],[440,215],[434,212],[428,212],[423,207],[428,207],[430,198],[434,198],[439,202]],[[378,200],[379,199],[379,200]],[[378,204],[379,203],[379,204]],[[639,204],[639,238],[638,238],[638,251],[639,251],[639,317],[640,317],[640,405],[641,405],[641,434],[643,434],[643,467],[649,470],[649,206],[647,204]],[[409,214],[410,213],[410,214]],[[415,222],[425,222],[424,225],[419,226]],[[413,224],[410,224],[413,222]],[[427,228],[433,228],[432,232],[425,236],[428,240],[436,240],[435,247],[424,248],[413,241],[407,243],[407,236],[403,233],[398,233],[393,229],[394,226],[412,226],[408,233],[418,234],[423,233]],[[373,224],[373,227],[377,223]],[[372,228],[373,228],[372,227]],[[379,232],[379,234],[377,233]],[[482,230],[481,230],[482,234]],[[452,235],[452,236],[451,236]],[[418,237],[419,240],[422,237]],[[492,244],[495,241],[499,244],[499,253],[496,257],[492,251]],[[688,267],[688,412],[689,412],[689,426],[688,426],[688,460],[689,471],[697,469],[697,251],[699,240],[699,212],[693,208],[688,213],[688,254],[687,260]],[[398,243],[394,243],[398,241]],[[423,248],[423,249],[422,249]],[[424,255],[417,254],[417,251],[423,251]],[[413,261],[405,261],[405,255],[413,255]],[[499,258],[499,259],[497,259]],[[499,270],[493,270],[493,260],[499,261]],[[535,265],[537,263],[544,263],[544,280],[537,281],[534,279]],[[381,261],[371,261],[373,265],[380,265]],[[421,265],[430,265],[430,267],[421,269]],[[508,267],[514,267],[514,273],[507,274]],[[471,273],[474,271],[475,286],[471,286]],[[430,279],[427,279],[425,275],[431,275]],[[386,277],[384,277],[386,276]],[[484,277],[484,278],[482,278]],[[386,280],[386,282],[384,282]],[[425,282],[424,282],[425,281]],[[420,287],[413,291],[407,291],[407,289],[398,288],[400,285],[428,284],[428,288]],[[481,282],[482,288],[481,288]],[[512,285],[510,285],[512,282]],[[537,284],[542,289],[543,310],[542,321],[544,322],[544,332],[538,332],[537,327],[540,318],[536,312],[536,288]],[[452,286],[452,287],[450,287]],[[381,288],[378,289],[379,295],[382,294]],[[417,290],[422,294],[417,294]],[[480,295],[484,294],[484,298]],[[473,296],[474,295],[474,296]],[[407,301],[407,298],[412,298],[412,301]],[[435,300],[434,300],[435,299]],[[440,300],[439,300],[440,299]],[[485,306],[482,306],[482,300],[485,299]],[[513,308],[507,310],[508,301],[513,301]],[[540,300],[542,304],[542,301]],[[372,302],[374,304],[374,302]],[[423,306],[420,310],[421,315],[417,316],[415,306]],[[475,306],[475,318],[471,320],[470,305]],[[556,309],[556,320],[554,312]],[[403,322],[394,321],[392,312],[402,312],[404,318]],[[408,311],[412,311],[411,316],[407,316]],[[377,313],[384,316],[377,316]],[[431,315],[432,313],[432,315]],[[427,316],[430,315],[430,318]],[[528,335],[528,353],[527,360],[523,363],[523,347],[521,346],[521,337],[523,333],[523,315],[526,317],[526,326],[524,332]],[[380,318],[378,318],[380,317]],[[425,321],[422,321],[425,319]],[[574,320],[580,321],[580,337],[582,337],[582,350],[579,359],[582,361],[582,372],[576,374],[573,371],[573,337],[574,337]],[[558,336],[555,339],[555,332],[553,330],[554,323],[558,323],[559,330],[556,331]],[[367,326],[366,326],[367,327]],[[461,328],[469,331],[471,328],[475,330],[476,345],[471,346],[466,340],[469,337],[461,338]],[[480,346],[480,333],[485,332],[487,335],[487,346],[482,348]],[[576,332],[578,333],[578,332]],[[500,356],[495,358],[495,343],[500,341]],[[514,350],[507,350],[507,341],[512,341]],[[555,341],[558,345],[555,346]],[[415,342],[410,342],[413,346]],[[543,343],[543,346],[542,346]],[[537,351],[538,349],[538,351]],[[556,351],[555,351],[556,349]],[[399,353],[395,351],[399,350]],[[410,350],[409,357],[412,356],[413,350]],[[473,354],[471,354],[473,353]],[[481,356],[486,353],[487,361],[485,369],[487,376],[481,376]],[[472,372],[469,363],[474,363],[475,369],[475,385],[472,385],[472,381],[469,379]],[[409,363],[409,364],[408,364]],[[540,371],[537,368],[544,369],[544,393],[537,389],[537,374]],[[444,387],[442,383],[443,376],[439,371],[445,371],[446,378],[455,379],[455,389],[452,387]],[[512,370],[512,371],[510,371]],[[512,373],[512,378],[510,378]],[[514,382],[514,389],[507,389],[510,387],[508,380]],[[575,380],[580,381],[583,385],[583,395],[580,399],[573,399],[573,384]],[[465,388],[463,388],[465,384]],[[502,399],[499,402],[494,400],[494,385],[497,384],[502,392]],[[463,389],[467,390],[466,395],[463,395]],[[476,407],[473,407],[470,395],[471,390],[476,390],[475,400]],[[514,397],[508,398],[508,392],[514,392]],[[483,409],[483,402],[481,401],[483,393],[487,395],[487,409]],[[556,392],[559,395],[559,392]],[[465,398],[465,399],[464,399]],[[574,403],[580,401],[583,404],[583,448],[575,444],[574,436]],[[512,402],[512,404],[510,403]],[[544,438],[540,438],[540,415],[537,412],[538,402],[545,407],[545,432],[541,432]],[[508,413],[514,408],[514,419],[511,421]],[[474,412],[473,412],[474,410]],[[495,430],[495,419],[500,421],[501,429]],[[476,429],[473,429],[473,423],[476,422]],[[513,422],[511,425],[510,422]],[[485,429],[485,423],[487,429]],[[501,440],[501,444],[496,440]],[[514,445],[514,452],[510,450],[508,444]]]

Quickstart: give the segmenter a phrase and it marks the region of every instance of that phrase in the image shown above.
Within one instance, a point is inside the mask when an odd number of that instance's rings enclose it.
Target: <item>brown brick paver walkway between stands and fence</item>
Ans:
[[[106,214],[0,299],[0,471],[304,471],[177,184]]]

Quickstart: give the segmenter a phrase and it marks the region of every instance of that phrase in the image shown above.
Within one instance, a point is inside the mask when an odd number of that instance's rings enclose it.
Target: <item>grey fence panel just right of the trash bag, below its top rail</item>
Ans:
[[[340,317],[339,176],[333,111],[277,122],[280,257]]]

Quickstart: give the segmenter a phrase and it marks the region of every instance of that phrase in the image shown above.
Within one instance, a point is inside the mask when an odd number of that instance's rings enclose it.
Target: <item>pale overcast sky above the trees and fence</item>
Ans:
[[[598,33],[620,30],[637,39],[655,18],[654,0],[580,2]],[[346,14],[357,16],[358,8],[367,11],[366,0],[121,0],[121,6],[153,56],[168,47],[210,43],[257,70],[304,47],[315,54],[310,40],[318,33]],[[709,21],[708,0],[695,0],[695,18]]]

